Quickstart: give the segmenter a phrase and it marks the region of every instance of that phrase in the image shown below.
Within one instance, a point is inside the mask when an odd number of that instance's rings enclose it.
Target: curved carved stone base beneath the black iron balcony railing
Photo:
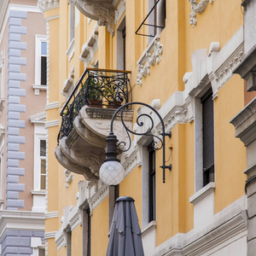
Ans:
[[[105,139],[115,108],[90,108],[84,106],[73,120],[73,130],[62,137],[55,148],[55,157],[67,170],[81,174],[86,180],[97,180],[99,169],[105,159]],[[132,110],[125,110],[124,121],[132,127]],[[119,115],[113,122],[113,131],[119,141],[127,141]]]

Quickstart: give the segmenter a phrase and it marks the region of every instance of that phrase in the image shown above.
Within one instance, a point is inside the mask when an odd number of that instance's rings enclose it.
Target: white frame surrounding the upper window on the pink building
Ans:
[[[47,44],[47,36],[36,35],[35,42],[35,84],[33,84],[33,89],[35,90],[35,95],[39,95],[39,90],[46,90],[47,84],[41,84],[41,43]]]

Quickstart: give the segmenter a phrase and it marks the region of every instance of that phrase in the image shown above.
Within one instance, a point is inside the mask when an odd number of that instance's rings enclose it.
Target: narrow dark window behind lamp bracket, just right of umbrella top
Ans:
[[[154,142],[148,145],[148,222],[155,220],[155,149]]]

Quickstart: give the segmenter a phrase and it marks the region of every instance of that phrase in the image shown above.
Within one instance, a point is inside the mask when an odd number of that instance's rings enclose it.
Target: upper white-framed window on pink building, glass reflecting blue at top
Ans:
[[[35,84],[33,88],[35,95],[39,90],[46,90],[47,84],[47,38],[46,36],[36,35],[36,54],[35,54]]]

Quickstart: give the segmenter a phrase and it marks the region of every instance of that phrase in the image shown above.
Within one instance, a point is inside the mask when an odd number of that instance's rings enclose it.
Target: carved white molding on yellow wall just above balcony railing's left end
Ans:
[[[84,62],[85,67],[87,67],[90,62],[92,65],[95,65],[95,54],[96,54],[96,50],[99,47],[98,34],[99,34],[99,26],[96,24],[93,32],[90,35],[90,38],[83,45],[81,49],[79,60]]]

